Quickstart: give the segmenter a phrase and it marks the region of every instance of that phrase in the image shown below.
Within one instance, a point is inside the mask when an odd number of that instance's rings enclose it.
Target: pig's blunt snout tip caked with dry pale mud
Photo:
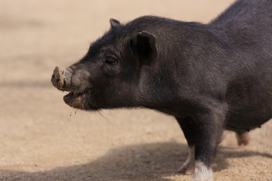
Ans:
[[[73,70],[69,67],[67,68],[60,68],[55,67],[51,82],[54,87],[61,91],[69,91],[71,88],[71,78],[72,78]]]

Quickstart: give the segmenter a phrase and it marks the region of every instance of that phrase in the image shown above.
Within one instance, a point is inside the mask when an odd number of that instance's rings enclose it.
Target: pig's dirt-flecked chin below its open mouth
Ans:
[[[89,96],[88,92],[84,93],[69,93],[63,96],[63,101],[67,105],[76,108],[76,109],[85,109],[85,100]]]

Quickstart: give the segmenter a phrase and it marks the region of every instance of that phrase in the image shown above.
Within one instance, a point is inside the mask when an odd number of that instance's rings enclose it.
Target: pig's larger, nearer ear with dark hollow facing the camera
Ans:
[[[142,31],[131,40],[130,45],[134,53],[147,65],[154,65],[158,60],[158,50],[156,47],[156,36]]]

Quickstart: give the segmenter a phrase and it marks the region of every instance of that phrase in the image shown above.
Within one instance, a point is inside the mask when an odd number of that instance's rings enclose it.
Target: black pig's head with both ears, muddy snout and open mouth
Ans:
[[[111,29],[93,42],[87,54],[67,68],[56,67],[52,84],[69,94],[64,102],[77,109],[98,110],[141,106],[139,83],[143,66],[158,59],[155,35],[133,22],[110,20]]]

